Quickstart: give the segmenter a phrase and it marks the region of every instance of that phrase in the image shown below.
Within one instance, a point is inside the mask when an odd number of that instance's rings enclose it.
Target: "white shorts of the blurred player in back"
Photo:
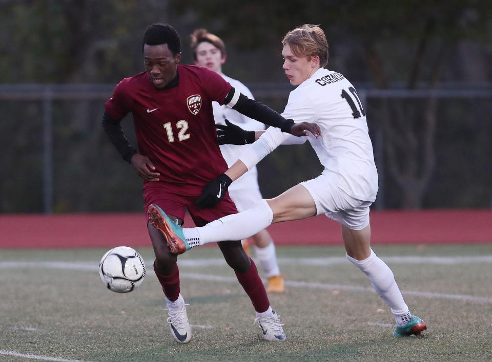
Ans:
[[[253,204],[261,200],[263,197],[258,186],[258,171],[256,167],[234,181],[229,186],[228,191],[239,212],[249,209]]]

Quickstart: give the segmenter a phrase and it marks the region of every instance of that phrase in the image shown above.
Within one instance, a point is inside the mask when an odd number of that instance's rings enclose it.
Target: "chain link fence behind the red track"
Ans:
[[[281,112],[292,90],[249,84]],[[141,180],[100,125],[114,84],[0,86],[0,212],[139,211]],[[379,172],[374,208],[489,208],[492,90],[358,89]],[[122,125],[136,145],[131,116]],[[281,146],[259,165],[265,198],[316,177],[308,144]],[[413,202],[416,201],[416,202]]]

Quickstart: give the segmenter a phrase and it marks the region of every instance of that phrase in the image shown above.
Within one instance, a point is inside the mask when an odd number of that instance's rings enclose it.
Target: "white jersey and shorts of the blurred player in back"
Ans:
[[[222,77],[227,80],[237,91],[241,92],[248,98],[255,99],[248,87],[244,86],[244,84],[239,80],[230,78],[223,74]],[[216,124],[226,124],[224,120],[227,119],[231,123],[241,127],[243,130],[257,131],[265,129],[265,125],[263,123],[246,117],[232,108],[227,107],[225,104],[220,105],[217,102],[212,102],[212,107]],[[226,160],[227,165],[231,167],[248,147],[249,145],[222,144],[220,145],[220,152],[222,153],[224,160]],[[252,167],[250,171],[242,175],[231,184],[229,187],[229,194],[240,211],[250,207],[251,203],[261,200],[260,189],[258,186],[258,171],[256,166]]]

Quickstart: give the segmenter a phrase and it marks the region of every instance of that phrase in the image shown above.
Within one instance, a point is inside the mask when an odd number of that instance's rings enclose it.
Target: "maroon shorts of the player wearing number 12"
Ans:
[[[178,195],[172,193],[159,185],[159,183],[154,183],[152,185],[147,184],[144,187],[144,212],[146,220],[149,220],[147,213],[147,208],[150,204],[156,204],[159,206],[166,214],[185,220],[185,207],[190,212],[190,216],[195,222],[196,226],[204,226],[209,222],[220,219],[223,216],[237,214],[236,205],[229,197],[229,193],[222,201],[213,208],[199,209],[194,204],[195,199],[198,196],[186,196]]]

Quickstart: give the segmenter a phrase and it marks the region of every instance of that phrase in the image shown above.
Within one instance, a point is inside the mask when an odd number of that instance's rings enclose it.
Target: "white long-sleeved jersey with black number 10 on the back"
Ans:
[[[321,164],[340,176],[338,186],[351,197],[374,202],[378,174],[362,104],[352,84],[337,72],[318,69],[289,95],[282,114],[296,123],[315,122],[322,137],[299,137],[269,127],[240,160],[250,169],[282,143],[309,139]],[[296,142],[297,141],[297,142]]]

